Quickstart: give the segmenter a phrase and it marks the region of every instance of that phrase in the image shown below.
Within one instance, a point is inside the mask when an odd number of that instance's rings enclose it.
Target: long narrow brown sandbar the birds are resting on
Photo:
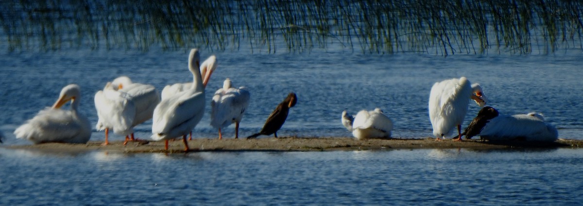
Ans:
[[[181,140],[170,141],[168,151],[164,150],[164,141],[134,141],[127,145],[123,141],[110,141],[101,145],[101,141],[87,144],[46,143],[36,145],[8,145],[5,148],[27,149],[47,152],[184,152]],[[399,150],[399,149],[434,149],[434,148],[469,148],[473,150],[493,150],[504,148],[580,148],[583,140],[557,140],[552,143],[535,143],[526,141],[492,142],[480,140],[436,141],[434,138],[416,139],[371,139],[356,140],[352,137],[280,137],[258,138],[254,140],[226,138],[196,138],[188,141],[190,150],[198,151],[353,151],[353,150]]]

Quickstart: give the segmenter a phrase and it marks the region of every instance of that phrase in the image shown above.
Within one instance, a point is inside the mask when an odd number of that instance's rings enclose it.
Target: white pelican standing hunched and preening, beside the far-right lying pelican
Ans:
[[[470,84],[466,77],[433,84],[429,96],[429,119],[436,140],[450,135],[455,126],[458,126],[457,140],[461,140],[461,125],[468,112],[470,99],[476,101],[480,107],[486,104],[482,87],[479,84]]]

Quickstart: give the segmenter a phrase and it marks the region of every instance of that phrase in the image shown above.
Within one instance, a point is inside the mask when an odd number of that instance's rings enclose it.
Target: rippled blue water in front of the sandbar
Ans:
[[[2,205],[579,205],[583,150],[45,154],[0,149]]]

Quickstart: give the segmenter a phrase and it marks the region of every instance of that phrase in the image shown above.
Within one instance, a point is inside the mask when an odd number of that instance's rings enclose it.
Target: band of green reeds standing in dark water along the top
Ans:
[[[581,49],[580,1],[2,1],[8,50],[342,47],[481,54]],[[490,50],[492,49],[492,50]]]

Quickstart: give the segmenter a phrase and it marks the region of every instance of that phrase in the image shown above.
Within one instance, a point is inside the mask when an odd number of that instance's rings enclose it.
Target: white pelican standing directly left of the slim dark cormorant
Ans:
[[[249,106],[250,93],[245,87],[234,88],[231,80],[227,78],[223,82],[223,88],[219,88],[210,103],[210,125],[219,129],[219,140],[222,139],[221,129],[235,123],[235,138],[239,138],[239,123],[247,106]]]

